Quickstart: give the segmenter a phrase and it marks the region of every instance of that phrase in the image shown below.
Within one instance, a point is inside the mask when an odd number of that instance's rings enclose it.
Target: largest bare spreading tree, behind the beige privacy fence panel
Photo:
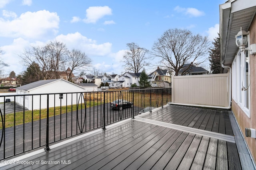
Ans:
[[[191,69],[192,63],[199,65],[207,60],[209,47],[207,37],[193,35],[189,30],[170,29],[154,42],[152,55],[162,58],[161,63],[175,75],[178,75],[184,64],[190,63],[182,69],[183,75]]]

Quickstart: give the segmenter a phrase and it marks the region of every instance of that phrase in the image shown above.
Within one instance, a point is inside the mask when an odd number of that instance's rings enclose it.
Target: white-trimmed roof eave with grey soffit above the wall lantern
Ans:
[[[231,66],[238,51],[235,35],[240,27],[246,31],[255,16],[256,1],[230,0],[220,5],[221,63]]]

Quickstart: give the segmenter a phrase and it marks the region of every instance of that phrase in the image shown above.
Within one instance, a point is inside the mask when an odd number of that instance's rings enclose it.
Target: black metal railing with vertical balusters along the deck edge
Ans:
[[[151,112],[171,101],[170,88],[7,94],[0,96],[0,160],[40,147],[50,150],[54,142],[96,128],[106,129],[106,125]],[[122,108],[121,103],[111,106],[116,100],[127,102]]]

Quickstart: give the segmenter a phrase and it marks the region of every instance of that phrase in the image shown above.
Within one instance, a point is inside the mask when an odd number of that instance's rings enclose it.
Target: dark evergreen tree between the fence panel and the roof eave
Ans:
[[[211,66],[211,73],[218,74],[221,73],[221,63],[220,63],[220,34],[218,37],[214,38],[214,45],[213,48],[210,49],[210,66]]]

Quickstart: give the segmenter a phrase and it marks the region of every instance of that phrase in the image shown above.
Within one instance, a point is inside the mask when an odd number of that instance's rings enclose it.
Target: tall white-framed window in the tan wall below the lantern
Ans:
[[[250,57],[248,51],[239,51],[232,63],[232,98],[250,117]]]

